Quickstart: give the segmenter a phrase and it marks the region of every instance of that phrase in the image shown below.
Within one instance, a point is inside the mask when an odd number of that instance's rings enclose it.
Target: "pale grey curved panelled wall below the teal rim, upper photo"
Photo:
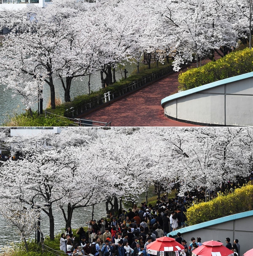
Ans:
[[[253,126],[253,77],[234,80],[165,101],[164,114],[189,123]]]

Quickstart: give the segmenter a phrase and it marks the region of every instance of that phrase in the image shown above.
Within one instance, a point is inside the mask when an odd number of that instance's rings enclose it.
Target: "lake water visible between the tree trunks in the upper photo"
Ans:
[[[128,71],[128,76],[136,69],[136,64],[126,63],[125,66]],[[124,70],[123,70],[124,71]],[[123,73],[124,75],[124,73]],[[122,78],[120,70],[117,70],[115,73],[116,80]],[[73,79],[70,88],[70,97],[74,98],[78,95],[87,94],[88,93],[88,81],[89,76],[84,76],[80,79]],[[64,101],[64,89],[60,82],[60,80],[55,80],[55,97],[60,98]],[[45,109],[49,99],[50,99],[50,88],[47,84],[44,85],[45,88],[43,90],[43,108]],[[90,78],[90,89],[91,91],[97,91],[101,88],[101,79],[100,72],[95,73]],[[13,92],[10,90],[4,91],[4,86],[0,84],[0,126],[4,123],[4,120],[8,120],[8,116],[14,116],[14,114],[20,114],[25,112],[25,107],[20,101],[20,97],[12,98]],[[34,110],[38,109],[38,105],[35,104],[33,107]]]

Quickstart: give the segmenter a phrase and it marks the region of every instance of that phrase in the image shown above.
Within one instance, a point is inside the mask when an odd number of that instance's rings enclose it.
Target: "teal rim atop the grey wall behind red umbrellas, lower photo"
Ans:
[[[168,233],[167,236],[169,236],[169,235],[176,236],[178,232],[180,232],[181,234],[184,234],[184,233],[192,232],[194,230],[198,230],[201,228],[206,228],[206,227],[210,227],[210,226],[224,223],[227,221],[233,221],[235,219],[241,219],[241,218],[246,218],[246,217],[250,217],[250,216],[253,216],[253,211],[240,212],[238,214],[233,214],[233,215],[225,216],[222,218],[213,219],[211,221],[202,222],[202,223],[192,225],[189,227],[180,228],[178,230]]]

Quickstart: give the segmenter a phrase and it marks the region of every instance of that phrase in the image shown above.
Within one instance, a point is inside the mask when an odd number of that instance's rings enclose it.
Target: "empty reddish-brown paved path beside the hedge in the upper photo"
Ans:
[[[164,116],[161,99],[177,92],[178,75],[179,72],[169,75],[83,118],[106,123],[111,121],[112,126],[196,126]]]

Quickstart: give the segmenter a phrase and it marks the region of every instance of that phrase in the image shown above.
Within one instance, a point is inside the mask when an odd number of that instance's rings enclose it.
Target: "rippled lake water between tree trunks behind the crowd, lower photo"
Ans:
[[[154,194],[152,194],[153,189],[154,187],[151,186],[148,191],[148,197],[154,196]],[[137,198],[138,204],[140,205],[140,203],[144,202],[145,200],[145,193],[142,193],[136,198]],[[127,208],[125,209],[127,210]],[[65,221],[63,218],[63,214],[60,210],[57,211],[55,207],[53,208],[53,210],[54,210],[53,214],[54,214],[54,224],[55,224],[54,233],[57,234],[57,233],[60,233],[62,228],[65,227]],[[91,217],[92,217],[92,206],[75,209],[73,212],[71,227],[72,228],[87,227],[86,222],[90,221]],[[94,218],[98,220],[101,217],[106,217],[105,202],[101,202],[94,206]],[[2,231],[1,239],[0,239],[0,252],[1,252],[1,247],[6,246],[8,243],[12,241],[13,242],[20,241],[20,237],[18,236],[15,228],[12,226],[8,227],[6,220],[1,215],[0,215],[0,230]],[[49,219],[44,212],[41,213],[41,230],[44,237],[49,235]],[[35,231],[32,233],[30,238],[35,239]]]

